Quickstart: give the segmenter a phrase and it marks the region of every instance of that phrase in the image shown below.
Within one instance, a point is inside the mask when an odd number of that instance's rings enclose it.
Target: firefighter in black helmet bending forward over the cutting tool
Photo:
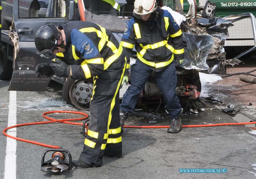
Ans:
[[[119,87],[126,58],[122,46],[112,33],[92,22],[68,22],[57,28],[45,25],[35,37],[37,54],[58,59],[38,64],[36,75],[71,76],[74,80],[93,77],[90,125],[79,160],[74,168],[99,167],[103,153],[122,157],[119,116]]]

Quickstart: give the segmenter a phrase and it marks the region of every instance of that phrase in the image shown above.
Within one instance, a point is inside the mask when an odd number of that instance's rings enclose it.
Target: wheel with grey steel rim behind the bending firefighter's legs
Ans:
[[[72,104],[80,110],[89,110],[92,99],[92,80],[72,80],[67,78],[63,84],[62,96],[68,104]]]

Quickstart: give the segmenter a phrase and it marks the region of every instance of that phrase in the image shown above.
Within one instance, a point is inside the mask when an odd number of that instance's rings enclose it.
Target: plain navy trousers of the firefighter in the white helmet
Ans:
[[[131,69],[131,86],[127,89],[123,96],[120,109],[124,112],[132,112],[137,104],[141,91],[148,80],[152,70],[139,59],[132,65]],[[180,100],[175,94],[177,85],[177,75],[175,62],[172,62],[167,68],[160,72],[154,72],[156,76],[157,86],[164,95],[166,105],[171,119],[176,119],[181,110]]]

